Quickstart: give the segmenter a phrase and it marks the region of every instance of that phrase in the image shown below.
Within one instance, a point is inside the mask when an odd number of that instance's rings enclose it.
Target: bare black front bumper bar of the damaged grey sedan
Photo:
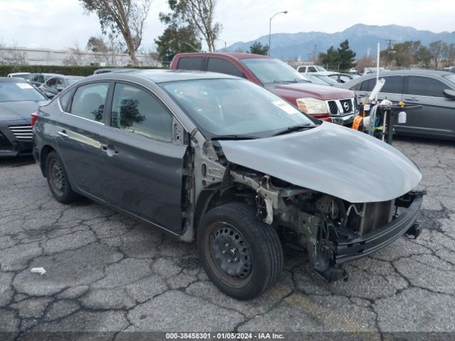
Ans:
[[[422,196],[414,197],[411,205],[390,223],[364,234],[353,240],[339,240],[336,246],[335,263],[337,265],[354,261],[368,254],[372,254],[400,238],[403,234],[412,234],[418,237],[420,229],[416,224],[422,205]]]

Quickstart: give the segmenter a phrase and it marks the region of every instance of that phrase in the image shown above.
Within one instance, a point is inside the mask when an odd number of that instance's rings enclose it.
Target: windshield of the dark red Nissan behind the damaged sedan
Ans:
[[[262,84],[277,82],[305,82],[300,72],[278,59],[244,58],[245,64]]]

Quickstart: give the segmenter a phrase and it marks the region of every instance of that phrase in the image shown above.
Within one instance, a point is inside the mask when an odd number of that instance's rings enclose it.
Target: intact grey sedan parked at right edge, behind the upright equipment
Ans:
[[[399,70],[381,72],[385,85],[379,99],[419,104],[422,109],[407,113],[407,122],[399,124],[398,134],[455,139],[455,75],[430,70]],[[375,87],[376,75],[370,74],[347,82],[341,87],[354,90],[358,99],[368,97]]]

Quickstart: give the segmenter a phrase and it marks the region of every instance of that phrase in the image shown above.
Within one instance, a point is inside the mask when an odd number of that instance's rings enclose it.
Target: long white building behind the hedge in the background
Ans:
[[[137,54],[139,66],[160,67],[151,55]],[[100,65],[122,67],[131,64],[127,53],[95,53],[90,50],[0,47],[1,64],[22,65]]]

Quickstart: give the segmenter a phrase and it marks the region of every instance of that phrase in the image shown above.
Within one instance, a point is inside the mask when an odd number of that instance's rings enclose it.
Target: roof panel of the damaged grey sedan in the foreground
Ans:
[[[165,69],[143,69],[134,70],[128,72],[108,72],[100,73],[98,75],[92,75],[87,77],[87,80],[103,80],[112,79],[118,80],[129,80],[134,78],[141,78],[143,80],[149,80],[154,83],[162,82],[178,82],[181,80],[210,80],[218,78],[233,78],[242,79],[231,75],[225,75],[224,73],[196,71],[196,70],[165,70]]]

